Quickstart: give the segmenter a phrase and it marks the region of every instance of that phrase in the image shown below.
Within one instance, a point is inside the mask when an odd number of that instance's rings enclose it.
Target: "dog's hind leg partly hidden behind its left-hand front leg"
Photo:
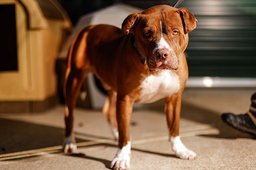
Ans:
[[[102,112],[106,116],[108,122],[111,125],[113,135],[118,140],[118,126],[116,121],[116,96],[117,93],[113,90],[108,91],[108,95],[103,106]]]

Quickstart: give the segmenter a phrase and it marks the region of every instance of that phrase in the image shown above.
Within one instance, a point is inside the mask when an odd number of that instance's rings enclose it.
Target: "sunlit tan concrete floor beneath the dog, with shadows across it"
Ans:
[[[220,120],[223,112],[244,113],[255,89],[186,89],[180,136],[196,160],[176,158],[167,141],[163,101],[134,109],[133,170],[256,169],[256,141]],[[78,153],[60,152],[64,106],[43,113],[0,113],[0,169],[109,169],[117,148],[98,110],[76,108]]]

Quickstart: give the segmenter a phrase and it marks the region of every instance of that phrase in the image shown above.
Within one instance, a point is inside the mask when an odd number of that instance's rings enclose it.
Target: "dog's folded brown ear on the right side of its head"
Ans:
[[[183,21],[185,33],[188,33],[196,28],[196,17],[190,11],[188,11],[186,8],[180,8],[178,13],[180,14],[180,17]]]

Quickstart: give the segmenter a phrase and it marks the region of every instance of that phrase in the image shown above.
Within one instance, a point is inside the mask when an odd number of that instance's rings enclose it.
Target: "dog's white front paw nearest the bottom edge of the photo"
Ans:
[[[110,164],[110,168],[113,168],[114,170],[130,169],[131,157],[131,142],[128,142],[126,146],[117,151],[116,157]]]

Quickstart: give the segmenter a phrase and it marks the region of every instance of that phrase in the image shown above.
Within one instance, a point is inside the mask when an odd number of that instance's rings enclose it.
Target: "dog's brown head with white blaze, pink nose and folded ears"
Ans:
[[[150,71],[177,70],[188,45],[188,32],[196,28],[196,18],[186,8],[153,6],[125,18],[122,31],[133,33],[137,48]]]

